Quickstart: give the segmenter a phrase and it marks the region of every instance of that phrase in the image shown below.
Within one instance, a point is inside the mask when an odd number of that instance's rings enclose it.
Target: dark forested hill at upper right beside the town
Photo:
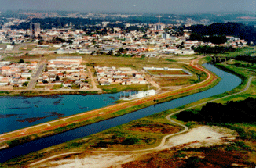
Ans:
[[[246,26],[243,23],[213,23],[209,26],[192,25],[187,27],[192,30],[192,39],[203,41],[205,35],[226,35],[236,36],[244,39],[247,42],[256,42],[256,28],[253,26]]]

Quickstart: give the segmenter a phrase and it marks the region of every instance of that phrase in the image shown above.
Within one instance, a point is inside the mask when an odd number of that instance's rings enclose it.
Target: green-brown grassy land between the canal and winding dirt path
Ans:
[[[159,132],[154,132],[151,129],[147,131],[141,131],[139,129],[134,130],[134,126],[138,127],[138,123],[146,126],[153,127],[154,124],[163,128],[173,129],[174,126],[169,123],[168,120],[162,118],[162,116],[148,116],[140,120],[134,120],[130,123],[112,127],[108,130],[104,130],[100,133],[90,135],[86,138],[79,138],[73,141],[55,145],[53,147],[42,149],[38,152],[32,152],[27,155],[20,156],[16,159],[10,159],[5,163],[0,163],[1,167],[20,167],[26,166],[27,163],[31,163],[31,160],[40,160],[48,158],[52,155],[57,155],[65,152],[75,151],[90,151],[90,150],[102,150],[107,148],[108,150],[134,150],[143,148],[152,148],[159,145],[164,135]],[[161,129],[161,127],[157,127]],[[177,127],[178,131],[179,128]],[[168,134],[168,133],[167,133]]]

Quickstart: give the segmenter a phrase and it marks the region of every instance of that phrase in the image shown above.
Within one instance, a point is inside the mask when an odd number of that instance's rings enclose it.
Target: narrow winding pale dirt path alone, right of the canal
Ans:
[[[255,72],[256,72],[256,71],[255,71]],[[207,102],[203,102],[203,103],[200,103],[200,104],[198,104],[198,105],[193,105],[193,106],[191,106],[191,107],[188,107],[188,108],[186,108],[186,109],[181,109],[181,110],[179,110],[179,111],[177,111],[177,112],[175,112],[175,113],[171,113],[171,114],[169,114],[168,116],[166,116],[166,119],[169,120],[170,123],[175,123],[175,124],[177,124],[177,125],[183,127],[184,130],[181,130],[180,132],[177,132],[177,133],[174,133],[174,134],[166,135],[165,137],[162,138],[161,143],[160,143],[158,146],[154,147],[154,148],[147,148],[147,149],[134,150],[134,151],[90,151],[90,152],[112,152],[112,153],[120,153],[120,152],[125,153],[125,152],[126,152],[126,153],[131,153],[131,152],[148,152],[148,151],[152,151],[152,152],[153,152],[153,151],[160,150],[160,149],[163,147],[163,145],[165,145],[167,138],[170,138],[170,137],[172,137],[172,136],[174,136],[174,135],[177,135],[177,134],[185,133],[185,132],[187,132],[187,131],[189,130],[187,126],[185,126],[185,125],[183,125],[183,124],[181,124],[181,123],[178,123],[177,121],[171,120],[171,119],[170,119],[171,116],[174,116],[174,115],[176,115],[177,113],[180,113],[181,111],[185,111],[185,110],[188,110],[188,109],[192,109],[192,108],[195,108],[196,106],[199,106],[199,105],[207,104],[208,102],[214,102],[214,101],[220,100],[220,99],[222,99],[222,98],[228,98],[228,97],[233,96],[233,95],[239,95],[239,94],[243,93],[244,91],[247,91],[247,90],[248,90],[248,88],[250,87],[250,84],[251,84],[251,80],[254,79],[254,78],[256,78],[256,77],[250,77],[250,78],[249,78],[249,80],[248,80],[248,82],[247,82],[247,86],[246,86],[246,88],[243,89],[243,91],[234,93],[234,94],[232,94],[232,95],[226,95],[226,96],[221,97],[221,98],[215,98],[214,100],[210,100],[210,101],[207,101]],[[85,151],[83,151],[83,152],[85,152]],[[46,162],[46,161],[49,160],[49,159],[54,159],[54,158],[57,158],[57,157],[60,157],[60,156],[63,156],[63,155],[74,155],[74,154],[79,154],[79,153],[82,153],[82,152],[81,152],[81,151],[80,151],[80,152],[68,152],[68,153],[64,153],[64,154],[60,154],[60,155],[53,155],[53,156],[51,156],[51,157],[49,157],[49,158],[42,159],[42,160],[40,160],[40,161],[38,161],[38,162],[35,162],[35,163],[31,163],[31,164],[28,165],[28,166],[34,166],[34,165],[36,165],[36,164]],[[27,166],[27,167],[28,167],[28,166]]]

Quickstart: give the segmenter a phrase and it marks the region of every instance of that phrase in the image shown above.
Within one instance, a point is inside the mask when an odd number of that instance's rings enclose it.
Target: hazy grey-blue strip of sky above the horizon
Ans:
[[[256,0],[0,0],[0,11],[48,10],[123,13],[256,11]]]

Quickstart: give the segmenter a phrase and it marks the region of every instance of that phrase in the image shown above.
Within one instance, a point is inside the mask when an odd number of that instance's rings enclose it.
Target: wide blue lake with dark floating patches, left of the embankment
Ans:
[[[119,95],[0,97],[0,134],[112,105]]]

